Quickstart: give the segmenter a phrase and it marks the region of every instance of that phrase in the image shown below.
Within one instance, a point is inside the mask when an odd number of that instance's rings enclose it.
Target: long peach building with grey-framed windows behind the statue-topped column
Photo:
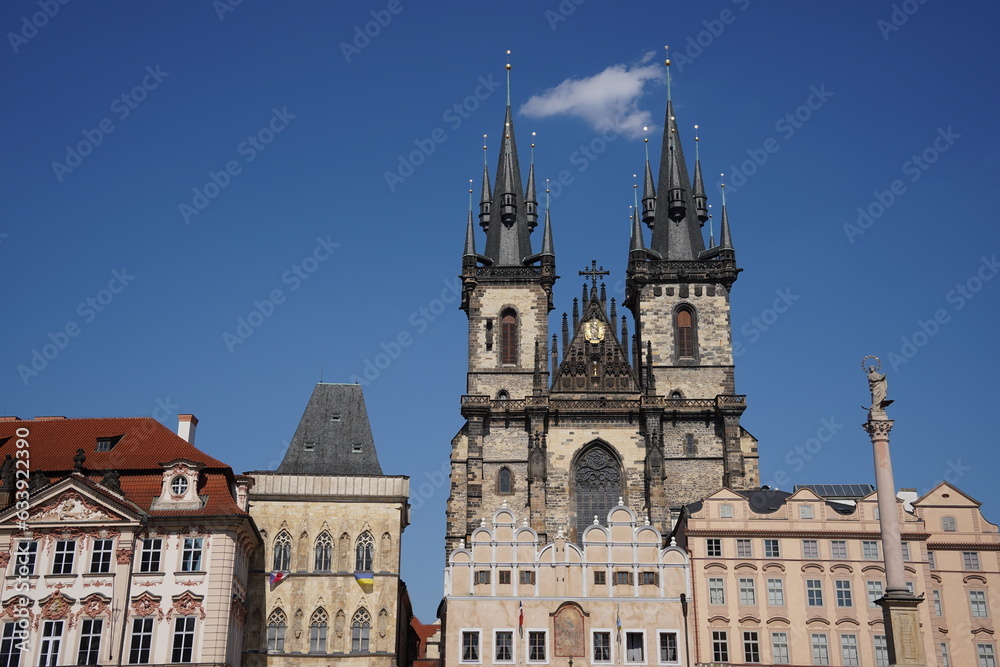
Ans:
[[[901,493],[897,511],[926,664],[991,664],[997,527],[950,484],[904,502],[915,497]],[[700,663],[888,665],[877,507],[874,493],[722,489],[686,508],[676,537],[691,554]]]

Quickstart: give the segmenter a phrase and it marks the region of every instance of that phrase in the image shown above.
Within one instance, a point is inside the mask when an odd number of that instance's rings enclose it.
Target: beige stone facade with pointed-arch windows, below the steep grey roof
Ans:
[[[405,664],[412,614],[399,569],[409,479],[251,475],[264,550],[251,578],[244,664]],[[371,585],[356,579],[361,572]]]

